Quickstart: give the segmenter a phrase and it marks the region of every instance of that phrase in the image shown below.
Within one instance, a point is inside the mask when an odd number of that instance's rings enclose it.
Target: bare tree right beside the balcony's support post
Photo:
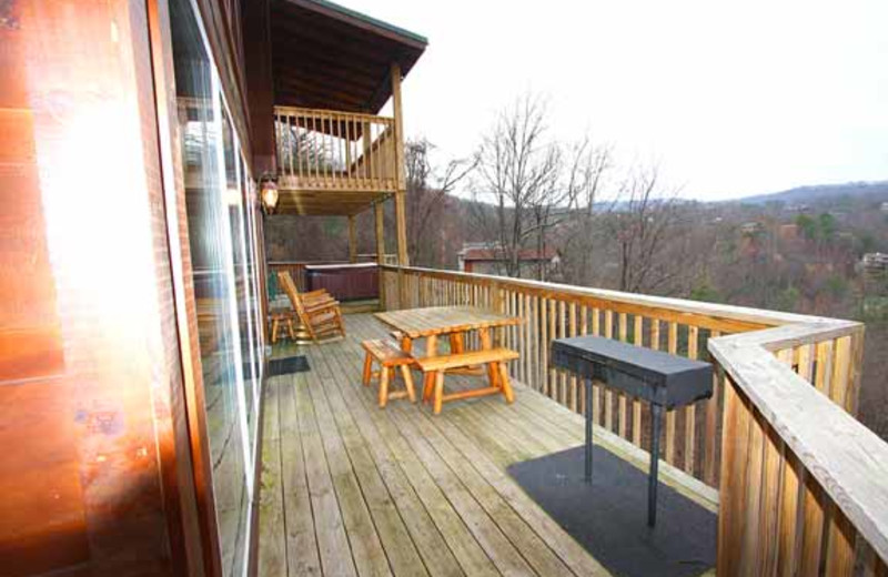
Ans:
[[[425,139],[412,140],[404,146],[404,161],[407,180],[407,251],[410,261],[427,266],[435,262],[434,250],[440,243],[435,234],[440,227],[434,222],[443,222],[448,194],[474,169],[476,161],[452,160],[438,174],[431,161],[434,145]]]

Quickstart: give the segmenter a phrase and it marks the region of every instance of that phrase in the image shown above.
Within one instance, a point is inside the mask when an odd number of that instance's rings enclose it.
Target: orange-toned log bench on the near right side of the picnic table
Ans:
[[[512,385],[508,382],[506,362],[518,358],[518,353],[509,348],[486,348],[455,355],[417,358],[416,364],[424,373],[423,402],[434,398],[435,415],[441,413],[441,406],[445,402],[460,398],[472,398],[502,393],[503,396],[506,397],[506,402],[512,403],[515,401],[515,393],[512,391]],[[444,374],[454,368],[472,365],[487,365],[487,376],[491,385],[484,388],[460,391],[445,395]]]

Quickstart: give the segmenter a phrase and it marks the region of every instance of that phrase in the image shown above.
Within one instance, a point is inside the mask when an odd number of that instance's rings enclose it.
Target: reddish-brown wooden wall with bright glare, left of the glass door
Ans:
[[[145,3],[0,45],[0,567],[201,574]]]

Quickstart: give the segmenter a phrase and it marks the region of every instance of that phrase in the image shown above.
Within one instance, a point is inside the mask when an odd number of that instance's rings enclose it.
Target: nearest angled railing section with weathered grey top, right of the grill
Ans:
[[[833,343],[830,366],[819,348]],[[719,575],[888,575],[888,443],[828,382],[855,379],[861,346],[847,321],[709,342],[726,375]]]

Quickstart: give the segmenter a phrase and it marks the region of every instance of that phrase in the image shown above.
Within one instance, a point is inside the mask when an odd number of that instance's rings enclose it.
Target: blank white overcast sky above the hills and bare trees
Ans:
[[[686,198],[888,179],[888,0],[340,1],[428,38],[405,126],[442,160],[531,90]]]

